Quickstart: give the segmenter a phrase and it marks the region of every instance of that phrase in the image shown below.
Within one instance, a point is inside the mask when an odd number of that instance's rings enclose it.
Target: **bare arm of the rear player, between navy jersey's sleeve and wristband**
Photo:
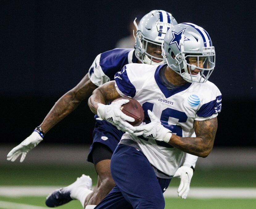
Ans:
[[[88,73],[73,89],[65,93],[55,103],[50,112],[40,124],[44,133],[47,133],[54,125],[71,113],[82,100],[89,97],[97,86],[91,82]]]

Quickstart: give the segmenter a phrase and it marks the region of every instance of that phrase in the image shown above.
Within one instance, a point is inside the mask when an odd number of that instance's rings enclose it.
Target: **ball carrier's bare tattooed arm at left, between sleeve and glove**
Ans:
[[[121,97],[116,88],[115,81],[109,81],[93,91],[88,105],[94,114],[97,114],[98,103],[107,105],[109,102]]]

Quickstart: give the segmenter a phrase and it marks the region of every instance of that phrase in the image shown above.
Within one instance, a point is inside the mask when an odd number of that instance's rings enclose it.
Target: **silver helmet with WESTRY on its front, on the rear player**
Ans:
[[[171,13],[164,10],[153,10],[140,20],[136,31],[135,55],[145,64],[164,64],[162,42],[171,26],[177,24]]]

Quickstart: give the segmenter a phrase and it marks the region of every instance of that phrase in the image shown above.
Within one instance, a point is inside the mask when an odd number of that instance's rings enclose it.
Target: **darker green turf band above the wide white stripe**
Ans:
[[[81,174],[89,175],[96,184],[93,166],[22,166],[0,165],[0,185],[68,185]],[[196,168],[191,186],[197,187],[256,187],[256,168]],[[178,186],[173,178],[171,186]]]

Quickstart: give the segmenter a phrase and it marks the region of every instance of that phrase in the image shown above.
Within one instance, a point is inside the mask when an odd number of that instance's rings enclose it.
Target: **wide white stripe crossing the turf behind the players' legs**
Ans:
[[[0,186],[0,196],[47,196],[61,186]],[[180,198],[177,188],[168,188],[164,197]],[[188,198],[256,198],[256,188],[192,187]]]

